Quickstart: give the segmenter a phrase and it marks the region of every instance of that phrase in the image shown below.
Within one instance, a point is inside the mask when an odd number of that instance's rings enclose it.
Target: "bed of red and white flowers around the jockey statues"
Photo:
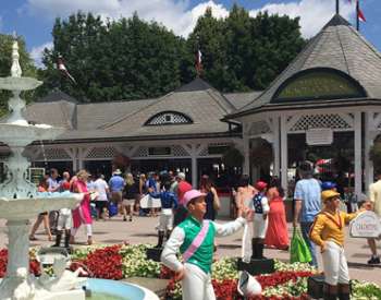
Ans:
[[[167,299],[182,299],[181,285],[173,280],[173,272],[160,263],[147,260],[146,244],[136,245],[96,245],[75,250],[72,254],[71,269],[85,267],[90,276],[107,279],[128,277],[151,277],[170,279],[167,287]],[[36,249],[30,252],[30,273],[40,274],[36,261]],[[0,250],[0,277],[7,269],[7,250]],[[49,269],[50,273],[50,269]],[[275,261],[275,273],[256,276],[262,286],[262,296],[250,300],[303,300],[307,299],[307,278],[315,274],[308,264],[286,264]],[[212,285],[217,299],[243,299],[237,292],[236,262],[234,259],[221,259],[212,265]],[[353,299],[381,299],[381,288],[374,284],[353,281]]]

